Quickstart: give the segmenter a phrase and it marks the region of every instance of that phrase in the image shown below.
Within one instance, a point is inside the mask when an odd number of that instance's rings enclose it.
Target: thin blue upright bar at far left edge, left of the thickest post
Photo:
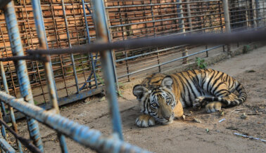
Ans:
[[[0,62],[0,70],[1,70],[2,82],[3,82],[3,85],[4,85],[4,90],[9,95],[8,84],[7,84],[7,81],[6,81],[6,74],[5,74],[5,71],[4,71],[3,62]],[[8,106],[8,108],[9,108],[9,112],[10,112],[10,117],[11,117],[13,129],[14,129],[15,133],[18,133],[18,126],[17,126],[17,124],[15,122],[15,114],[14,114],[13,107]],[[20,141],[18,139],[15,139],[15,141],[16,141],[17,146],[18,146],[18,151],[19,152],[23,152],[21,144],[20,144]]]

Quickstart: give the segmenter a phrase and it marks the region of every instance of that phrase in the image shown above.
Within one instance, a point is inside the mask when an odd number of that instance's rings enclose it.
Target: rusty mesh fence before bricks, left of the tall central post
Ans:
[[[88,44],[96,39],[94,24],[89,10],[82,7],[81,1],[65,1],[65,13],[62,10],[62,1],[41,1],[42,13],[44,16],[44,27],[46,30],[47,45],[49,48],[65,48]],[[39,48],[37,31],[34,27],[34,17],[30,1],[16,1],[15,12],[18,18],[18,27],[20,29],[23,49]],[[85,17],[86,15],[86,17]],[[8,39],[8,31],[4,14],[1,15],[0,32],[1,32],[1,57],[11,57],[11,46]],[[87,21],[84,20],[87,18]],[[68,29],[64,22],[68,24]],[[88,27],[86,27],[86,24]],[[87,34],[87,29],[89,34]],[[70,35],[68,41],[67,31]],[[88,41],[90,39],[90,41]],[[75,71],[77,82],[75,79],[73,62],[71,55],[54,55],[51,57],[53,66],[54,79],[56,81],[57,92],[59,98],[75,95],[78,91],[89,91],[91,88],[96,88],[96,77],[101,79],[101,62],[98,54],[89,55],[88,53],[76,53],[73,55],[75,63]],[[93,60],[92,60],[93,59]],[[94,62],[94,68],[92,67]],[[4,62],[4,69],[9,85],[9,90],[12,95],[20,97],[18,78],[15,75],[15,66],[12,61]],[[28,74],[30,83],[34,90],[34,100],[37,104],[46,103],[49,101],[48,91],[45,84],[44,65],[39,61],[27,61]],[[92,73],[96,72],[96,75]],[[101,84],[101,81],[99,81]],[[88,86],[87,86],[88,85]],[[76,86],[79,87],[77,91]],[[81,88],[82,87],[82,88]],[[99,91],[97,91],[99,93]]]

